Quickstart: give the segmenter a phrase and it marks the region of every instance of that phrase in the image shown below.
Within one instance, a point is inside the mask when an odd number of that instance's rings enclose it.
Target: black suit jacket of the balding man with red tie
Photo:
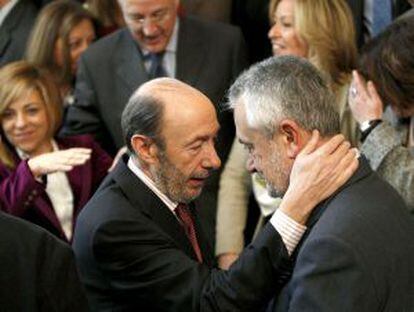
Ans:
[[[120,161],[81,211],[73,248],[94,311],[261,311],[284,281],[286,250],[272,226],[230,271],[196,260],[168,207]]]

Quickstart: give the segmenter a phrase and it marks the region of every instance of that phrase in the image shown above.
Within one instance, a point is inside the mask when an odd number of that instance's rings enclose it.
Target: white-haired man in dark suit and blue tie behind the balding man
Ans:
[[[63,134],[93,133],[111,154],[125,145],[120,119],[132,92],[155,76],[175,77],[205,93],[219,113],[217,150],[226,159],[234,123],[220,102],[247,63],[239,29],[192,17],[177,17],[178,0],[121,0],[127,28],[99,40],[82,56],[76,102],[69,107]],[[155,57],[162,69],[154,71]],[[213,243],[218,173],[198,204]]]

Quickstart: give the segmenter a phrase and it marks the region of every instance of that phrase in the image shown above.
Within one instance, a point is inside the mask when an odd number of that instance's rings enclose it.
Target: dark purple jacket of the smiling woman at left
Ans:
[[[91,198],[107,174],[111,158],[93,141],[91,136],[57,139],[59,149],[86,147],[92,156],[82,166],[67,173],[74,196],[73,220]],[[15,154],[16,168],[11,170],[0,162],[0,203],[2,210],[33,222],[63,240],[67,240],[43,183],[36,181],[27,165]]]

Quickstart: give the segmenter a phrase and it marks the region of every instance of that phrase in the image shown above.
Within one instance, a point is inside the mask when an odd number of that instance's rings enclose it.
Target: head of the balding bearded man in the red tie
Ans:
[[[141,169],[170,199],[190,202],[220,166],[219,124],[210,100],[171,78],[143,84],[122,114],[122,128]]]

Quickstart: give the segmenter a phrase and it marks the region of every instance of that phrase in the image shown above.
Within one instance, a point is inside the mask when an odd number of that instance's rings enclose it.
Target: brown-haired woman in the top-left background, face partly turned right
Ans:
[[[65,105],[73,102],[79,57],[95,37],[92,14],[76,1],[53,1],[36,19],[25,58],[49,70],[59,85]]]

